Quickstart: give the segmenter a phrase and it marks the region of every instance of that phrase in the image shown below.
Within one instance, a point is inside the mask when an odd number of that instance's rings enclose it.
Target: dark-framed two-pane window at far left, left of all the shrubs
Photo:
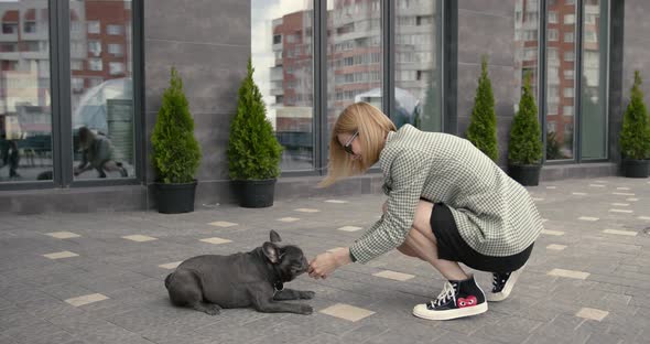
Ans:
[[[134,178],[131,1],[1,1],[0,13],[0,183]]]

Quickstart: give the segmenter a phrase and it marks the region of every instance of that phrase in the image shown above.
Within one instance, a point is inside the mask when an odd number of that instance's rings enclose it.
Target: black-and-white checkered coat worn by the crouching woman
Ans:
[[[486,256],[521,252],[542,230],[528,191],[465,139],[407,125],[389,133],[379,165],[388,211],[350,246],[358,262],[404,243],[420,198],[446,204],[461,237]]]

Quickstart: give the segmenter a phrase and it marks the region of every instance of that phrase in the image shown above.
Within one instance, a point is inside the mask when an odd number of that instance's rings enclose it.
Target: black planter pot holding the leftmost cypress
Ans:
[[[196,181],[185,184],[155,183],[158,212],[181,214],[194,212]]]

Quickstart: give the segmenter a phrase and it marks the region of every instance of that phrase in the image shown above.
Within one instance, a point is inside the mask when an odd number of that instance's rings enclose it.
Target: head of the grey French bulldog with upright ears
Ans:
[[[262,251],[267,259],[280,271],[283,281],[291,281],[307,271],[310,262],[300,247],[278,245],[282,239],[275,230],[271,230],[270,239],[271,241],[262,245]]]

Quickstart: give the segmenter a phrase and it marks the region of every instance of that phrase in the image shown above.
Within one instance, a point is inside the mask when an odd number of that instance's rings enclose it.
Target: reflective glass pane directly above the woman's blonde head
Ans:
[[[327,0],[327,138],[347,106],[381,109],[380,2]]]

